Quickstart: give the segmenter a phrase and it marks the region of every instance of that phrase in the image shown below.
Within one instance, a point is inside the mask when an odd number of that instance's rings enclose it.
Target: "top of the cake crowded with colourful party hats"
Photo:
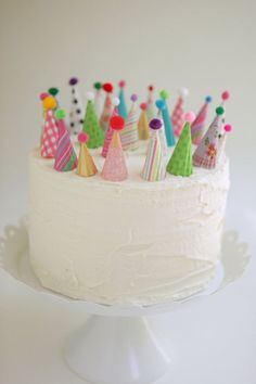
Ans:
[[[225,125],[228,91],[221,93],[221,104],[207,128],[212,97],[205,98],[197,115],[185,113],[189,91],[184,87],[179,90],[170,113],[170,93],[163,89],[154,100],[152,85],[140,108],[136,93],[127,107],[125,80],[118,82],[118,98],[112,82],[94,82],[95,94],[87,93],[86,106],[78,78],[71,78],[68,85],[72,90],[68,121],[65,111],[57,108],[56,87],[40,94],[43,110],[40,157],[52,169],[69,171],[75,177],[94,176],[98,182],[99,178],[102,182],[131,179],[142,184],[161,181],[158,184],[165,185],[176,178],[178,183],[189,179],[194,182],[199,174],[201,179],[223,164],[227,133],[232,130],[230,124]]]

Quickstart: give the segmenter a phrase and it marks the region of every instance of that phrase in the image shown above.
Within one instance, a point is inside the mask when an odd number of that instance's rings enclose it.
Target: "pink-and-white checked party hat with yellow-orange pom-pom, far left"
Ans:
[[[59,129],[53,114],[56,107],[56,101],[53,97],[48,95],[42,100],[42,104],[46,111],[46,118],[41,135],[41,156],[54,158],[59,139]]]

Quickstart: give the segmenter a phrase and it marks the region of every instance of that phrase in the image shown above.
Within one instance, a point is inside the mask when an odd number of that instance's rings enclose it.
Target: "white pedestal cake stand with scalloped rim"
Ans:
[[[69,368],[90,383],[143,384],[162,376],[171,362],[170,343],[161,340],[146,317],[170,311],[184,303],[208,296],[238,280],[247,263],[247,245],[239,242],[238,233],[226,232],[221,263],[216,279],[193,296],[161,305],[121,306],[74,300],[42,287],[34,274],[28,258],[26,223],[7,227],[0,239],[1,267],[20,283],[69,303],[79,302],[90,313],[84,327],[71,335],[64,350]]]

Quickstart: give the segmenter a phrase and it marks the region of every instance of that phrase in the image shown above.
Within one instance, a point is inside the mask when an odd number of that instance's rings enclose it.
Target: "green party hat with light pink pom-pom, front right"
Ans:
[[[193,172],[191,123],[194,118],[195,115],[193,112],[184,115],[184,127],[166,167],[167,172],[170,175],[190,176]]]

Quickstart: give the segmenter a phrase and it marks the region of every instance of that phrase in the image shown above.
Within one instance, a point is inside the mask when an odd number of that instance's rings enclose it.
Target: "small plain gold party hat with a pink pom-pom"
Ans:
[[[80,132],[78,135],[80,151],[78,156],[77,174],[84,177],[93,176],[98,172],[97,166],[86,144],[88,139],[89,136],[86,132]]]

